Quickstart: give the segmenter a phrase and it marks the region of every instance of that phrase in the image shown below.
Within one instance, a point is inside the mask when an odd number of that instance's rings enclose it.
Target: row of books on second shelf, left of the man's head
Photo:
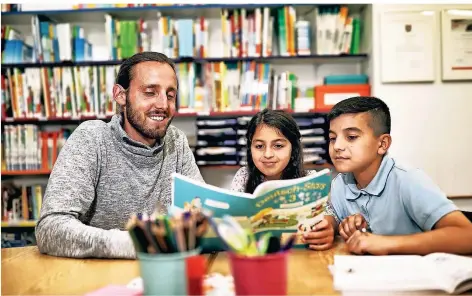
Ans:
[[[118,66],[7,69],[3,118],[111,116]]]

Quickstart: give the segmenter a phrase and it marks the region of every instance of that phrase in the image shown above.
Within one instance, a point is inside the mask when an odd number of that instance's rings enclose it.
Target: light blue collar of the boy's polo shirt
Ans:
[[[390,158],[388,155],[385,155],[380,163],[379,170],[377,174],[375,174],[374,179],[367,185],[364,189],[357,188],[356,179],[352,173],[345,173],[343,174],[344,182],[347,184],[347,187],[351,191],[352,194],[347,196],[347,199],[354,200],[357,199],[361,193],[368,193],[370,195],[379,196],[387,185],[387,179],[390,175],[390,172],[395,165],[395,161],[393,158]]]

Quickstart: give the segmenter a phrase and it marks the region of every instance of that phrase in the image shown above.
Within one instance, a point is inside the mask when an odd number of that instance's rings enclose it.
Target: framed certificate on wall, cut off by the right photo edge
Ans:
[[[472,10],[442,11],[442,79],[472,80]]]

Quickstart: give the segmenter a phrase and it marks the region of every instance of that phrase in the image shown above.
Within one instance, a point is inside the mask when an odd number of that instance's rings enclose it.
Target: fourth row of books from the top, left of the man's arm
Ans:
[[[46,186],[2,184],[2,221],[38,220]]]

